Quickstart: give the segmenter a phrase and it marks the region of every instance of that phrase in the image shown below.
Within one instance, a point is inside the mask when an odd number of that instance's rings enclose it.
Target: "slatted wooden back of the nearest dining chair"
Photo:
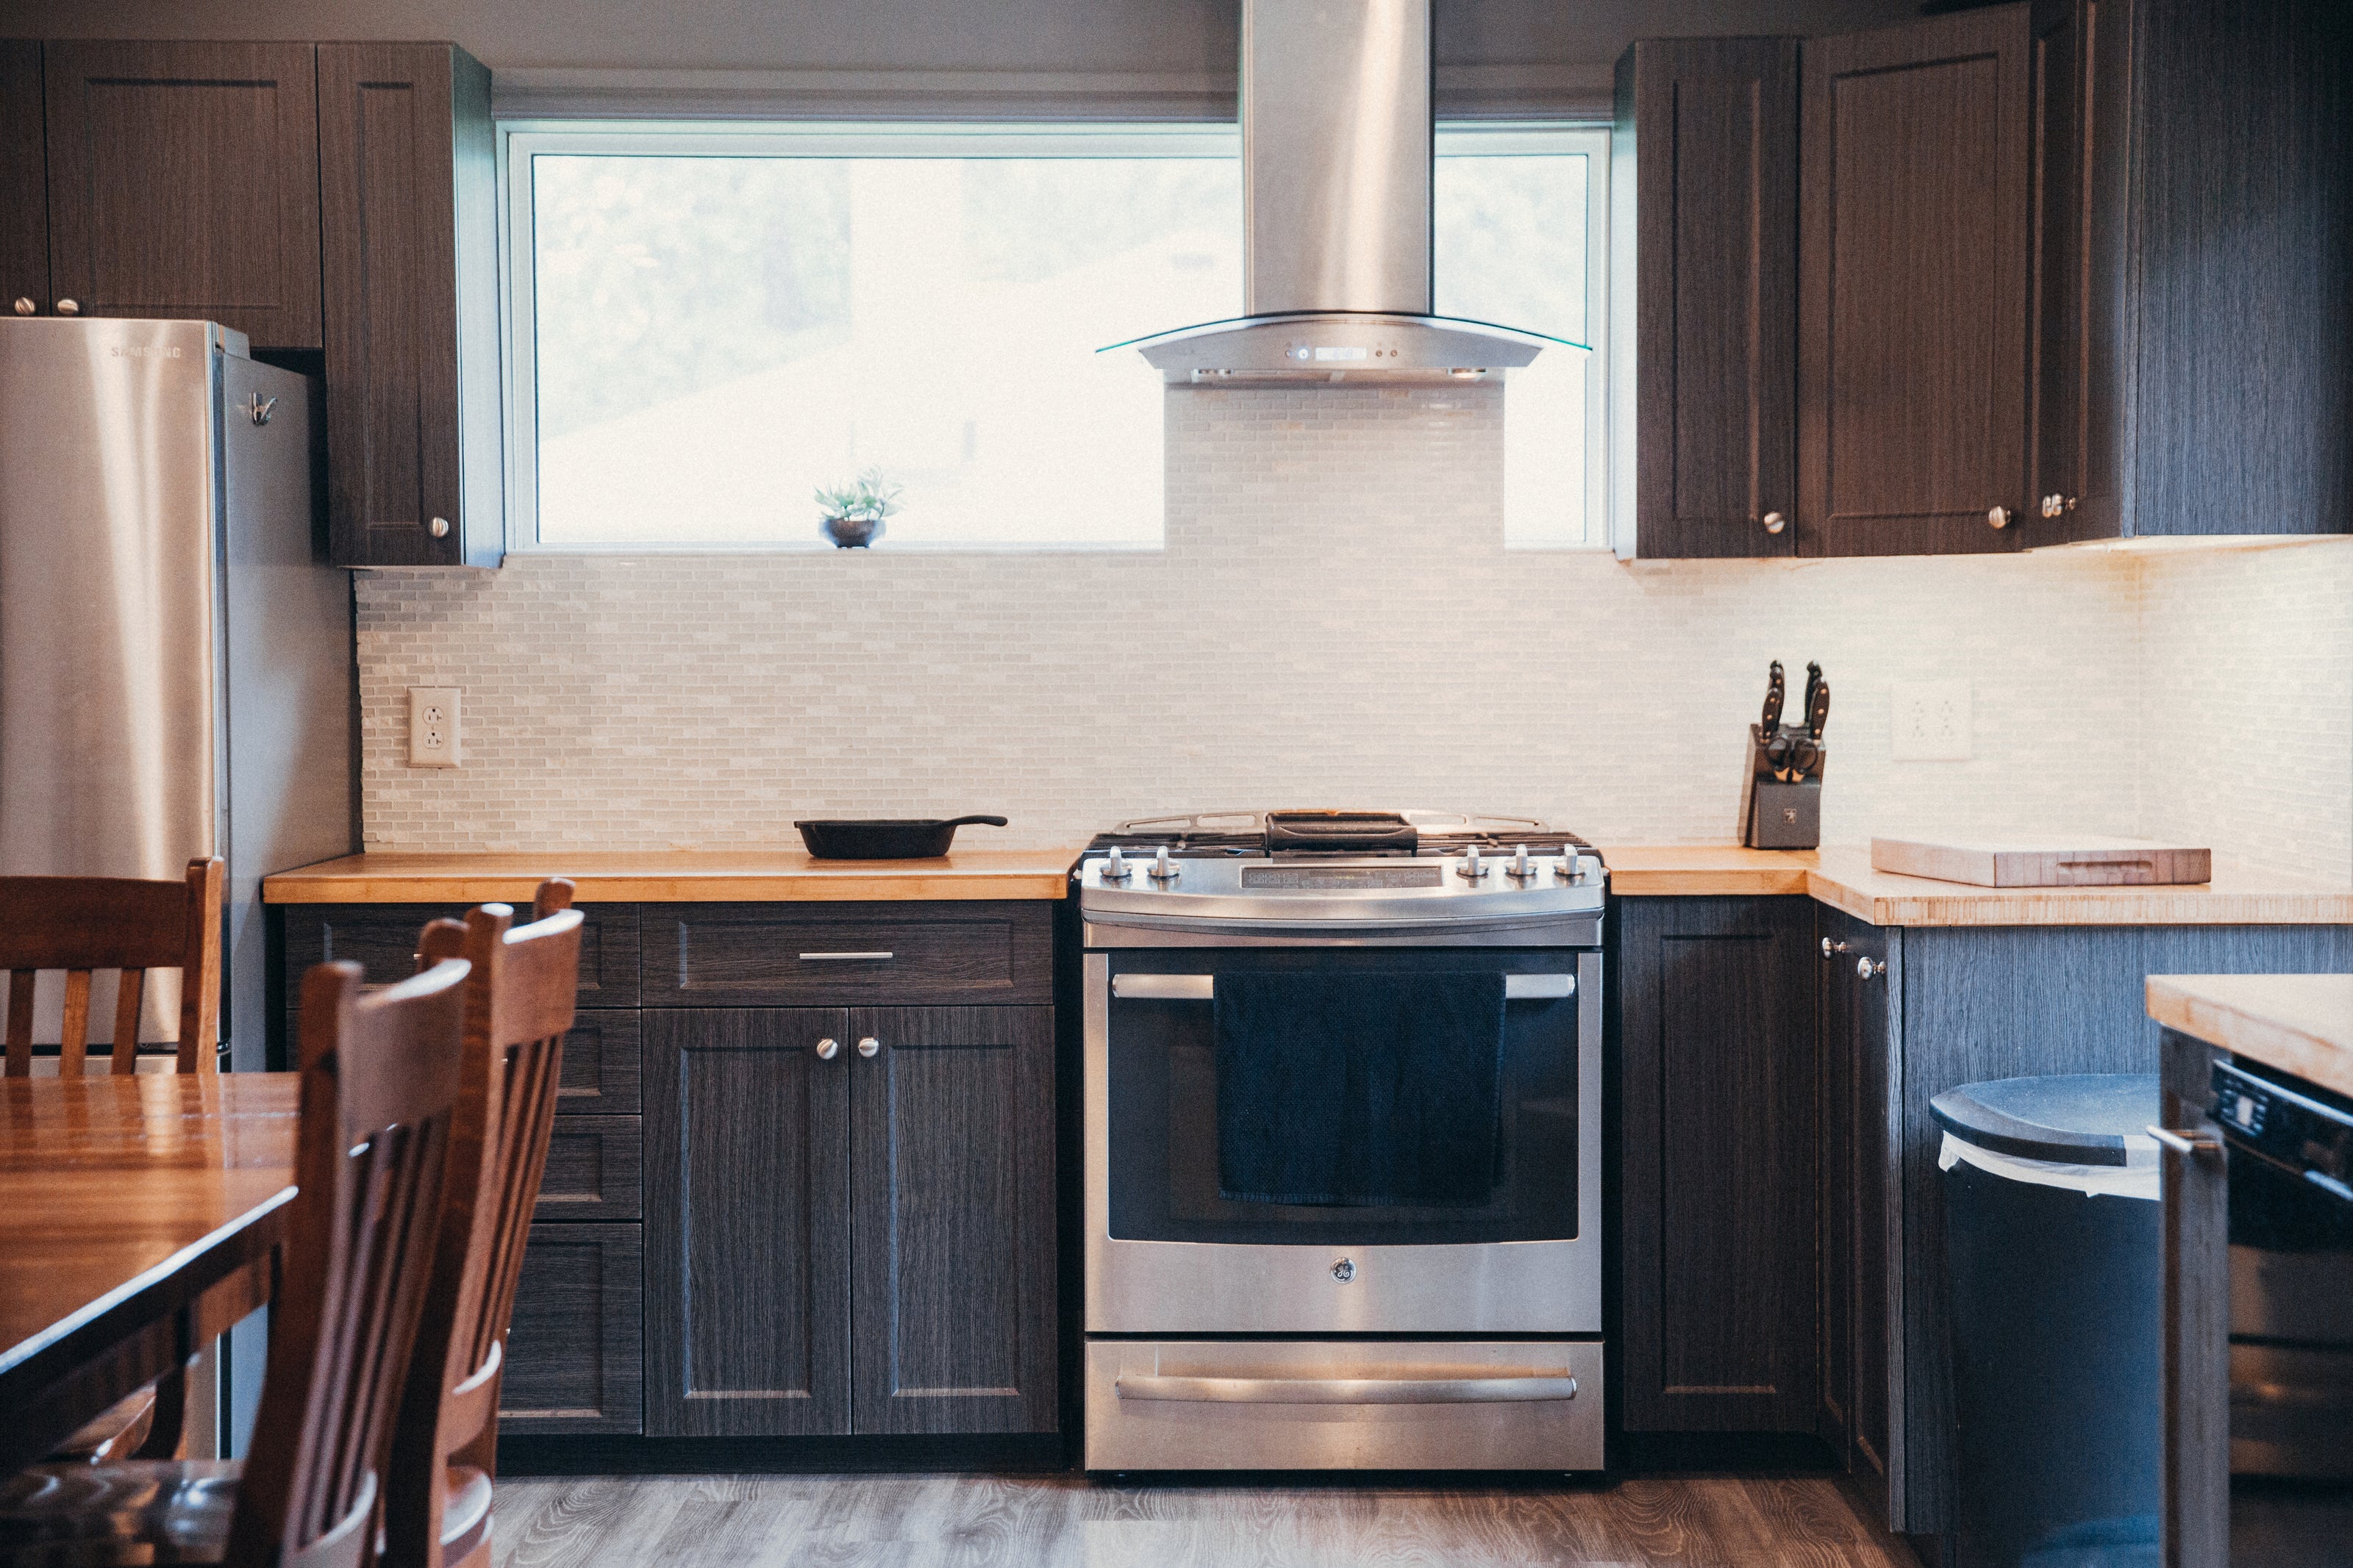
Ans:
[[[301,1131],[285,1276],[228,1561],[362,1568],[431,1284],[464,1058],[464,961],[301,990]]]

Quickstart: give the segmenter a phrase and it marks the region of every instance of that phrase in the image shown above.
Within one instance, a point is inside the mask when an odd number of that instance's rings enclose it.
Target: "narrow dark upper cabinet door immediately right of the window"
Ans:
[[[1619,132],[1635,146],[1635,552],[1791,555],[1798,40],[1633,45]]]

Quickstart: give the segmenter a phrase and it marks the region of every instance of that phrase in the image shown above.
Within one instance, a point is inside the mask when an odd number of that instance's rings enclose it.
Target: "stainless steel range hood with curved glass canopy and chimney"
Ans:
[[[1565,343],[1431,315],[1431,0],[1242,0],[1242,310],[1169,386],[1487,381]]]

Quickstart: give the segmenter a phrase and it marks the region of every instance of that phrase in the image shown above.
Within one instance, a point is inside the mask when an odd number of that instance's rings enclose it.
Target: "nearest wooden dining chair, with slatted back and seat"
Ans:
[[[252,1458],[35,1465],[0,1481],[0,1563],[365,1568],[431,1276],[466,964],[301,990],[301,1131]]]

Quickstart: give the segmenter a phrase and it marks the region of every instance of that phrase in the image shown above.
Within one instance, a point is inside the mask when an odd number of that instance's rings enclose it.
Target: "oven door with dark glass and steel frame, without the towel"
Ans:
[[[1219,1194],[1219,976],[1501,973],[1501,1152],[1485,1204]],[[1089,952],[1089,1333],[1600,1333],[1602,959],[1593,950]]]

